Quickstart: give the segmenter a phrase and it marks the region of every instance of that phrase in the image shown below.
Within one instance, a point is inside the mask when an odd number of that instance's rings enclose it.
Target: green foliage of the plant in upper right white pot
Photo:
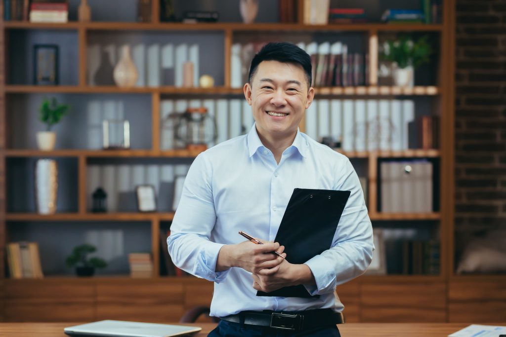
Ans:
[[[425,35],[413,42],[410,36],[402,35],[396,40],[388,40],[383,45],[382,59],[397,63],[399,68],[416,68],[430,61],[432,47],[427,41],[428,38]]]

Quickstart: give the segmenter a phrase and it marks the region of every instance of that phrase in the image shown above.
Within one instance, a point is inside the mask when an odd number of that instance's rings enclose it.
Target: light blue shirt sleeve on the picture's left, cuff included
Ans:
[[[186,175],[167,246],[178,268],[220,283],[228,270],[215,271],[223,245],[209,240],[216,222],[212,177],[213,170],[205,153],[198,155]]]

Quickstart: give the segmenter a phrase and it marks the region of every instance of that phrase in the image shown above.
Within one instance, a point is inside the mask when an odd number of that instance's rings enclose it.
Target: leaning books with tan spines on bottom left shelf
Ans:
[[[7,264],[11,278],[43,278],[36,242],[12,242],[7,244]]]

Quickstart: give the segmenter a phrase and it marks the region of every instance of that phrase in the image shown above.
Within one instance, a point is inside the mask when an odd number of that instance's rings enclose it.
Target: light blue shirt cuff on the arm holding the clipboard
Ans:
[[[316,281],[316,286],[304,285],[311,296],[335,291],[336,277],[334,269],[329,267],[329,263],[325,257],[316,255],[305,264],[311,269]]]

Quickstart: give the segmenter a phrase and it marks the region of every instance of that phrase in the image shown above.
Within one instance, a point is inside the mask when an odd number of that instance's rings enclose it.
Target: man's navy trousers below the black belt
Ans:
[[[314,329],[289,331],[275,329],[268,326],[248,325],[233,323],[221,320],[218,326],[209,334],[208,337],[341,337],[338,327],[333,325],[322,326]]]

